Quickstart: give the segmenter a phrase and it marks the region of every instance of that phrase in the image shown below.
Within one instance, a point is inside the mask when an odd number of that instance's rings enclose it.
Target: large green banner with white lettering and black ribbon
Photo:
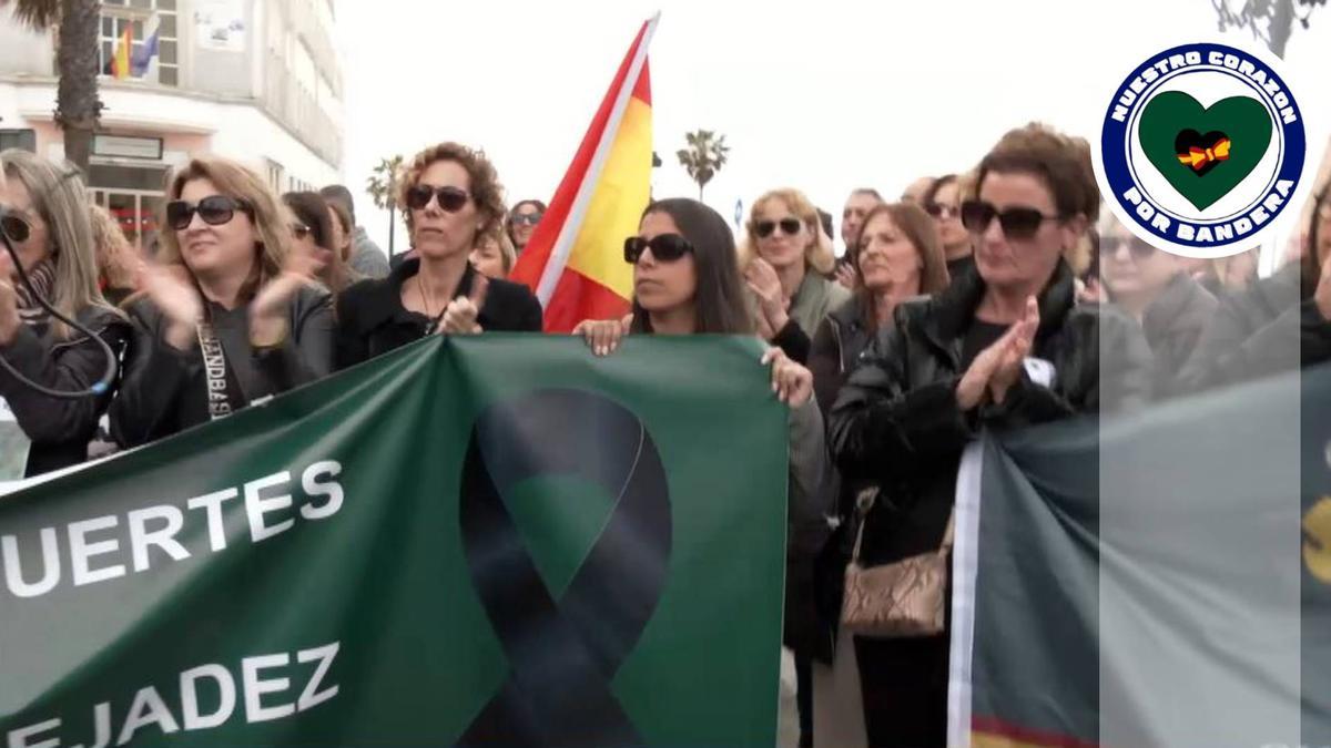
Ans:
[[[772,745],[759,357],[431,338],[0,498],[5,745]]]

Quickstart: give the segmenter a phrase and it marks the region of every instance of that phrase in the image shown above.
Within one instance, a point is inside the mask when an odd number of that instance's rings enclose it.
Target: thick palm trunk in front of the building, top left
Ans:
[[[65,158],[88,173],[92,136],[101,117],[97,98],[97,24],[100,0],[0,0],[13,5],[13,15],[33,31],[53,31],[60,84],[56,89],[56,124],[65,133]]]

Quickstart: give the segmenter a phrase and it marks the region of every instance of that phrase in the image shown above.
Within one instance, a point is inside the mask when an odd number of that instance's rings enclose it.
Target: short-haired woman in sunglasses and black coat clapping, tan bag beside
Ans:
[[[961,453],[981,427],[1107,413],[1149,390],[1137,325],[1073,305],[1062,253],[1099,210],[1089,148],[1030,125],[1008,133],[977,177],[978,198],[961,210],[977,273],[900,303],[829,419],[843,478],[878,486],[861,514],[866,567],[937,552]],[[949,632],[857,636],[855,647],[869,744],[946,744]]]

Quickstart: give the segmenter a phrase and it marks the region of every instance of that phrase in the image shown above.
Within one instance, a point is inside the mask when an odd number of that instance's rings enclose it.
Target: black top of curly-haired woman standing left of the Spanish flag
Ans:
[[[402,262],[381,280],[361,281],[337,299],[337,367],[346,369],[419,341],[434,319],[402,306],[402,283],[421,270],[421,260]],[[453,298],[471,293],[476,270],[467,264]],[[527,286],[491,280],[476,317],[488,331],[539,333],[540,302]]]

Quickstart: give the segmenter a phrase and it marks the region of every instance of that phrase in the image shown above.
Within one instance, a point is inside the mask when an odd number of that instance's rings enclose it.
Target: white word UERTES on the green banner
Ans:
[[[299,496],[293,495],[291,472],[284,470],[244,483],[194,496],[185,510],[176,504],[148,506],[125,515],[104,515],[43,527],[40,531],[0,535],[0,566],[5,588],[15,598],[37,598],[57,587],[97,584],[130,571],[148,571],[154,564],[190,558],[190,550],[176,539],[185,522],[208,523],[208,548],[226,550],[225,512],[229,502],[242,502],[249,538],[261,543],[295,527],[297,514],[305,520],[327,519],[342,508],[342,484],[334,480],[342,466],[334,461],[315,462],[299,476]],[[294,511],[293,511],[294,510]],[[285,516],[285,519],[280,519]],[[41,563],[36,563],[40,546]],[[0,594],[0,599],[4,595]]]

